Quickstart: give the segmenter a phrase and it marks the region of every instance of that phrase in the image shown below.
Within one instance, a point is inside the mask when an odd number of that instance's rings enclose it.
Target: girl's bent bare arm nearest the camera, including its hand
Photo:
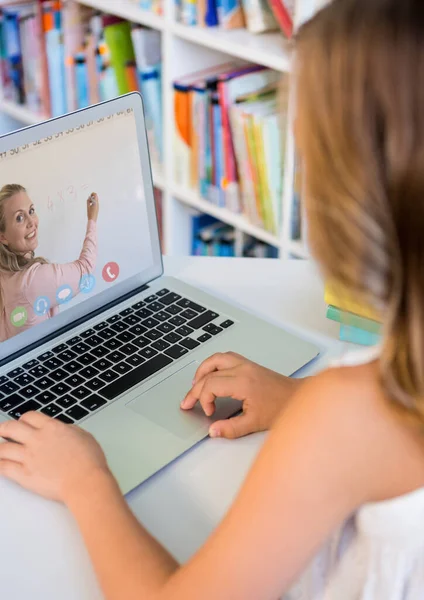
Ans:
[[[24,444],[0,444],[0,458],[8,459],[0,460],[0,473],[66,502],[108,600],[275,600],[331,531],[376,499],[384,480],[401,477],[393,473],[389,419],[361,368],[305,382],[226,518],[180,568],[137,523],[96,458],[94,440],[83,449],[81,430],[39,413],[0,425],[0,436]],[[29,426],[37,432],[20,429]]]

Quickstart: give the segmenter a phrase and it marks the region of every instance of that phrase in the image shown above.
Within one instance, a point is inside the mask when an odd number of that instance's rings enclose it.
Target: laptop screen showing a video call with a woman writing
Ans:
[[[31,128],[36,139],[0,154],[0,359],[130,293],[157,263],[145,135],[134,106],[116,108],[58,119],[52,135]]]

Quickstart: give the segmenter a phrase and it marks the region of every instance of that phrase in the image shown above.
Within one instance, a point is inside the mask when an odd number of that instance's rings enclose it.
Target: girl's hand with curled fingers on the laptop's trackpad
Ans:
[[[215,412],[216,398],[241,400],[241,415],[217,421],[209,429],[211,437],[238,438],[270,429],[301,384],[300,379],[284,377],[234,352],[214,354],[198,368],[181,408],[189,410],[200,402],[210,417]]]

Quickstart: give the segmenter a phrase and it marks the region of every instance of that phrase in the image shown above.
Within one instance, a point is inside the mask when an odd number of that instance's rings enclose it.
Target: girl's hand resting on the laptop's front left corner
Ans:
[[[87,432],[37,412],[0,423],[0,476],[50,500],[68,503],[97,475],[112,477]]]

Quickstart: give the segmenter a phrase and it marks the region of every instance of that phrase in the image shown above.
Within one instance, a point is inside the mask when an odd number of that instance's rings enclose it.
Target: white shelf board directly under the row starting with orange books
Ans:
[[[238,215],[227,208],[220,208],[207,200],[203,200],[203,198],[200,198],[193,190],[174,185],[171,188],[171,195],[183,204],[195,208],[200,212],[212,215],[212,217],[219,219],[223,223],[227,223],[227,225],[231,225],[239,231],[243,231],[266,244],[270,244],[277,248],[280,248],[281,246],[281,241],[276,235],[268,233],[268,231],[265,231],[261,227],[252,225],[243,215]]]

